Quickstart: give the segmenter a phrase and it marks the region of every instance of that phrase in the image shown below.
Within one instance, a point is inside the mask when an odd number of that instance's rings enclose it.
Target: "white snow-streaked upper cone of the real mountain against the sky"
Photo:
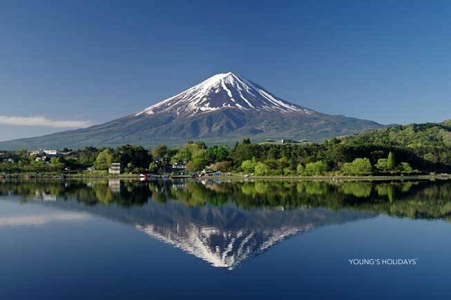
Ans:
[[[228,72],[215,74],[197,86],[160,101],[136,115],[156,114],[158,112],[168,112],[176,116],[194,115],[226,108],[301,112],[303,114],[313,112],[276,97],[249,79]]]

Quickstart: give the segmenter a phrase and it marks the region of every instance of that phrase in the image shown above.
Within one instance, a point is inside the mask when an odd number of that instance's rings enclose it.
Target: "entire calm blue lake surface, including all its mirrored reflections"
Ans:
[[[0,299],[445,299],[451,182],[0,181]]]

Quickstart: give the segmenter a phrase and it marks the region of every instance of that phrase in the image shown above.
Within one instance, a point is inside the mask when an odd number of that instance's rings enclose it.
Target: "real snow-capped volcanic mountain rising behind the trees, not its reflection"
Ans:
[[[243,137],[320,141],[383,127],[374,121],[323,114],[289,103],[228,72],[215,74],[141,112],[89,128],[3,141],[0,149],[175,145],[193,139],[233,143]]]

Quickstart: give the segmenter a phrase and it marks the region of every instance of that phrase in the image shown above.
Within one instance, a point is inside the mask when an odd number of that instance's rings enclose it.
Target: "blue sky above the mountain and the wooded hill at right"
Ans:
[[[109,121],[227,71],[320,112],[441,121],[450,37],[450,1],[1,1],[0,140]]]

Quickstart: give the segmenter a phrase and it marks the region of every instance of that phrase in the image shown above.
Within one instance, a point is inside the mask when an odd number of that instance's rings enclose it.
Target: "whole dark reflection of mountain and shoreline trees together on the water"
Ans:
[[[0,195],[97,214],[233,269],[300,232],[387,214],[451,216],[451,183],[0,181]]]

